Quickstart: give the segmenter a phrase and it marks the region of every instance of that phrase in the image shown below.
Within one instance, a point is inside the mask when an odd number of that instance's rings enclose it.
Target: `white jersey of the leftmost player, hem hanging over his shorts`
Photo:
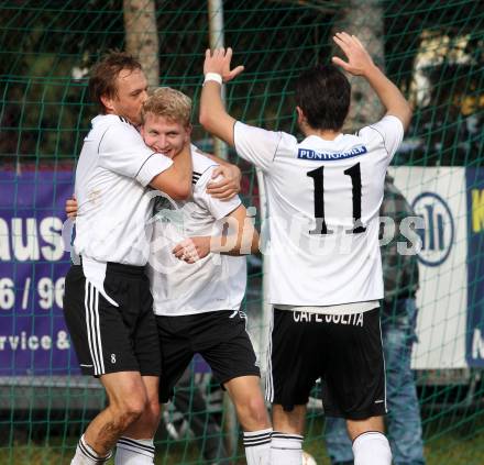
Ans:
[[[144,266],[150,253],[151,180],[172,159],[148,148],[121,117],[98,115],[76,167],[74,250],[86,277],[102,291],[107,262]]]

